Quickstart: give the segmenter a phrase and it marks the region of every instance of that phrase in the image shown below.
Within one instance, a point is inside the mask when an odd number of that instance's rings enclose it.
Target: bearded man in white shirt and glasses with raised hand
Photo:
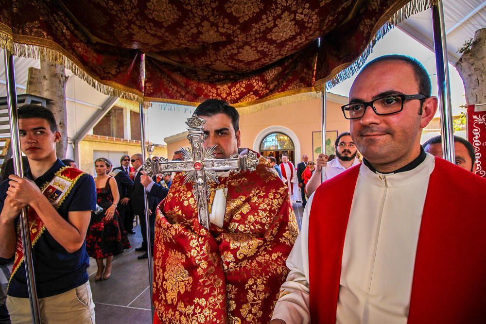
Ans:
[[[326,154],[319,154],[316,160],[316,171],[312,174],[311,180],[306,185],[306,194],[308,197],[321,184],[322,170],[324,170],[324,181],[326,181],[360,163],[360,160],[356,158],[358,149],[351,138],[351,134],[348,132],[341,133],[337,136],[334,147],[336,149],[336,158],[329,163]],[[326,167],[326,169],[323,169],[323,167]]]

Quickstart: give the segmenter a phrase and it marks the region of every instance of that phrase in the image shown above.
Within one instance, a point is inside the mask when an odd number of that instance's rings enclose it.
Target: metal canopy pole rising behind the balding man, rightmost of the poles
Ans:
[[[442,1],[431,8],[434,28],[435,66],[437,68],[437,90],[439,94],[440,129],[442,134],[442,156],[455,163],[454,132],[452,127],[451,85],[449,83],[449,61],[447,59],[446,29]]]

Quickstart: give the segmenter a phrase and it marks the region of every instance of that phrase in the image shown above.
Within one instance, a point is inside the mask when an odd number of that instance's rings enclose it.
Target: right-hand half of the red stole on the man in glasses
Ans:
[[[408,323],[486,323],[486,180],[435,158]]]

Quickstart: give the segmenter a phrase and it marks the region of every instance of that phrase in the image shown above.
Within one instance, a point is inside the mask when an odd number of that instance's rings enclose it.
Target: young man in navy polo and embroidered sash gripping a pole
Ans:
[[[26,179],[11,175],[0,184],[0,256],[16,256],[7,292],[12,324],[32,323],[17,231],[17,216],[26,206],[41,321],[95,323],[85,249],[96,205],[93,178],[57,159],[55,145],[61,134],[50,110],[24,105],[18,119],[21,149],[30,168]]]

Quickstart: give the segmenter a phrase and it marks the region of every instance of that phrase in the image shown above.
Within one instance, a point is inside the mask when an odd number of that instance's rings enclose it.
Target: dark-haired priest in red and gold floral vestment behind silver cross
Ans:
[[[206,120],[205,145],[217,145],[216,158],[238,152],[235,108],[208,100],[195,114]],[[156,215],[154,323],[270,321],[298,227],[287,187],[259,159],[256,171],[221,172],[211,183],[209,231],[198,222],[192,184],[174,177]]]

